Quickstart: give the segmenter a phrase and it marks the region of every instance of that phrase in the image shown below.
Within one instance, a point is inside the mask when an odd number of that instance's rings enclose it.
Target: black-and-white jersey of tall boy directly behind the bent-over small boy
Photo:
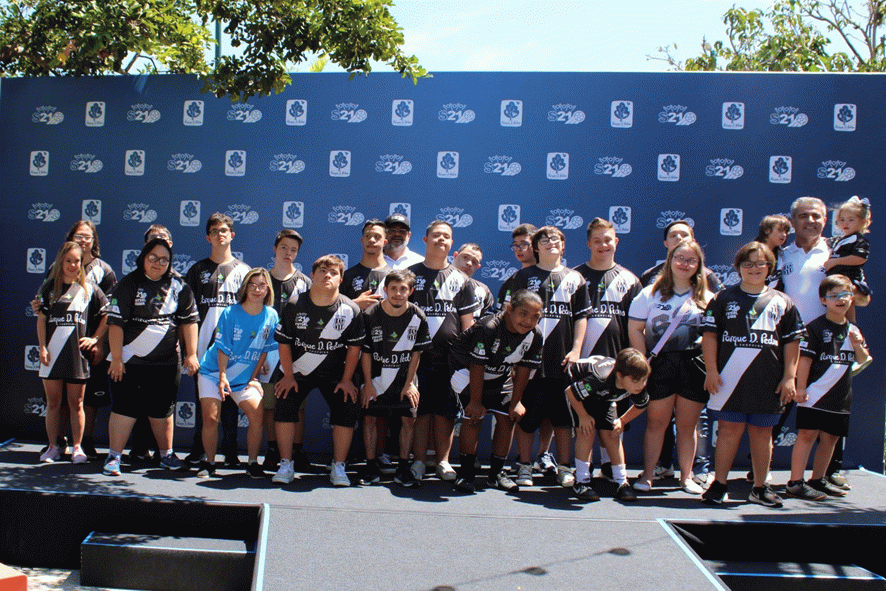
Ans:
[[[587,263],[575,268],[585,278],[591,309],[581,356],[615,357],[628,346],[628,311],[642,286],[637,276],[616,264],[606,271]]]

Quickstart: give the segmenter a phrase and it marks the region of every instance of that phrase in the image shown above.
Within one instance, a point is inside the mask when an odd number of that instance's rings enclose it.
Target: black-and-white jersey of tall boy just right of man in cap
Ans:
[[[473,314],[479,307],[470,279],[452,265],[431,269],[419,263],[409,270],[415,273],[415,291],[409,301],[425,313],[432,342],[421,356],[421,364],[446,365],[449,348],[461,332],[461,316]]]

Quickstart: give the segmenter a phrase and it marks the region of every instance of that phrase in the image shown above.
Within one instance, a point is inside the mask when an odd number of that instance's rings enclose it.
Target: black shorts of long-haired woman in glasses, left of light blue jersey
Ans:
[[[123,378],[113,382],[111,410],[135,419],[171,417],[178,397],[178,366],[124,364],[123,368]]]

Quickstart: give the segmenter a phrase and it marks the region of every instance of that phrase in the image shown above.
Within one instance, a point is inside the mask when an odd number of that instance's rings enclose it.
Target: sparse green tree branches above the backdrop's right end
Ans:
[[[733,7],[723,15],[727,41],[703,39],[702,54],[685,63],[671,46],[649,57],[676,70],[883,72],[884,17],[886,0],[780,0],[765,12]],[[831,39],[848,51],[832,53]]]

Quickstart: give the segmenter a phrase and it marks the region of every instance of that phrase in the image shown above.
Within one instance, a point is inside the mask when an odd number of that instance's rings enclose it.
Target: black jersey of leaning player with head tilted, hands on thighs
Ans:
[[[463,392],[470,383],[470,366],[476,364],[483,366],[484,390],[510,390],[505,382],[512,368],[541,365],[543,341],[538,326],[520,334],[508,330],[504,313],[485,316],[455,339],[449,355],[450,385],[456,393]]]

